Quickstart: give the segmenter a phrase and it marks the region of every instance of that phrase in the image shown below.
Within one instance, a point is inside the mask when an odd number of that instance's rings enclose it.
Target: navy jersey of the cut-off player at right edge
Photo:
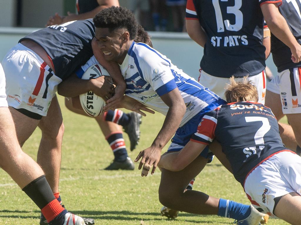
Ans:
[[[282,0],[279,11],[286,19],[291,32],[299,44],[301,44],[301,1]],[[293,63],[290,48],[273,34],[271,34],[271,52],[278,72],[301,66],[301,62]]]

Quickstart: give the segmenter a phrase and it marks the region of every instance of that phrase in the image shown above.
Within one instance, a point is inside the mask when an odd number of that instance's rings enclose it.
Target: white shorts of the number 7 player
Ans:
[[[279,152],[256,167],[247,176],[244,189],[255,208],[273,218],[275,197],[291,192],[301,195],[301,157],[293,152]],[[259,211],[261,211],[259,209]]]

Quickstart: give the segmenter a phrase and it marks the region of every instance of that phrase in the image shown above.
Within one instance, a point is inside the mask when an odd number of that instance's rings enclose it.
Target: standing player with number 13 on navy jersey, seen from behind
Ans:
[[[188,0],[186,27],[189,36],[204,47],[199,81],[223,98],[231,76],[248,76],[257,86],[259,102],[266,94],[263,22],[287,46],[296,62],[301,47],[293,38],[277,6],[281,0]]]

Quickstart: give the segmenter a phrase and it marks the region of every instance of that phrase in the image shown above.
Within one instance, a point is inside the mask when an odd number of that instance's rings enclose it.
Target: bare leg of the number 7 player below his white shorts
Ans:
[[[274,214],[290,224],[300,224],[301,196],[292,192],[281,197],[275,207]]]

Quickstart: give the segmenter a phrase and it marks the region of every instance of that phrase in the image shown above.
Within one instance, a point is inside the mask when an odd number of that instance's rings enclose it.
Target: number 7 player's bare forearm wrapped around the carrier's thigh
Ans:
[[[179,152],[171,152],[161,156],[158,167],[170,170],[180,171],[191,164],[207,145],[189,141]]]

